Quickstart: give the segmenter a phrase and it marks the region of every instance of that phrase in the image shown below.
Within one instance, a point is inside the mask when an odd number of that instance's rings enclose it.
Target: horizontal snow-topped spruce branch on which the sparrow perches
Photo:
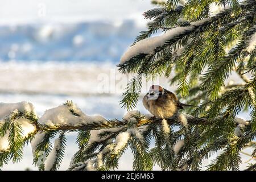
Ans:
[[[29,102],[1,103],[0,104],[0,126],[14,119],[15,122],[22,123],[23,137],[39,131],[51,130],[98,130],[108,129],[115,126],[127,125],[133,115],[139,115],[137,127],[148,125],[152,122],[162,122],[162,119],[155,118],[150,114],[141,114],[139,111],[129,111],[121,120],[108,120],[100,115],[89,116],[83,113],[76,104],[68,101],[63,105],[46,110],[42,117],[38,118],[34,106]],[[14,114],[18,114],[13,118]],[[206,118],[193,117],[192,115],[182,114],[187,119],[188,125],[210,125],[211,122]],[[180,122],[180,114],[176,117],[168,118],[168,125]],[[241,120],[241,119],[240,119]],[[2,128],[1,128],[2,129]],[[2,134],[2,133],[1,133]]]

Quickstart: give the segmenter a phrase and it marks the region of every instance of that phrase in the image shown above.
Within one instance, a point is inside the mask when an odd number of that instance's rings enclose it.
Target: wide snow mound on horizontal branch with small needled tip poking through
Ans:
[[[73,114],[69,109],[73,110]],[[67,105],[60,105],[46,110],[38,122],[43,125],[54,127],[56,125],[80,126],[92,123],[106,124],[108,121],[100,115],[86,115],[77,107],[76,104],[73,104],[72,108]]]

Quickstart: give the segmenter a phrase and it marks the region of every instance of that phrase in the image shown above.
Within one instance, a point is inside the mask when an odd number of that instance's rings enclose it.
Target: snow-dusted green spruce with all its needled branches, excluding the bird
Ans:
[[[134,155],[134,170],[151,170],[155,164],[163,170],[200,170],[203,160],[220,150],[207,169],[238,170],[244,148],[253,147],[251,156],[256,157],[256,1],[154,3],[160,7],[143,14],[151,20],[148,29],[118,65],[122,73],[137,73],[121,104],[133,109],[142,78],[164,76],[177,85],[180,99],[197,107],[167,120],[129,111],[109,121],[82,113],[71,101],[40,118],[30,103],[9,109],[1,105],[0,167],[9,160],[19,162],[24,145],[31,142],[35,166],[56,170],[68,132],[77,132],[79,146],[70,170],[117,169],[127,148]],[[221,10],[213,13],[212,6]],[[156,33],[160,35],[153,37]],[[240,77],[241,83],[228,82],[230,75]],[[242,111],[250,113],[249,121],[237,117]],[[150,148],[152,141],[155,146]],[[255,171],[256,164],[246,170]]]

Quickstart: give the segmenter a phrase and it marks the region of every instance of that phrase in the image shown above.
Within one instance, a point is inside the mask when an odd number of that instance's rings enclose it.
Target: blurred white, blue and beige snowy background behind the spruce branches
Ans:
[[[146,29],[142,14],[154,7],[150,0],[1,0],[0,5],[1,102],[31,102],[40,117],[72,100],[88,115],[122,118],[126,111],[119,101],[127,78],[116,65]],[[158,82],[171,89],[168,80]],[[141,102],[137,109],[147,113]],[[69,133],[62,170],[77,151],[75,140]],[[127,151],[119,169],[131,170],[132,158]],[[29,145],[20,163],[3,170],[26,168],[36,169]]]

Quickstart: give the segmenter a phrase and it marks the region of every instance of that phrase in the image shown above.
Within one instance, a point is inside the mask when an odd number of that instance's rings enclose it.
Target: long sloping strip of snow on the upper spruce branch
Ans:
[[[209,18],[205,18],[203,20],[191,22],[191,26],[172,28],[171,30],[166,31],[163,35],[140,40],[122,55],[120,63],[130,60],[132,57],[137,56],[140,53],[154,54],[155,49],[164,46],[168,40],[177,35],[183,34],[185,31],[193,30],[208,20]]]

